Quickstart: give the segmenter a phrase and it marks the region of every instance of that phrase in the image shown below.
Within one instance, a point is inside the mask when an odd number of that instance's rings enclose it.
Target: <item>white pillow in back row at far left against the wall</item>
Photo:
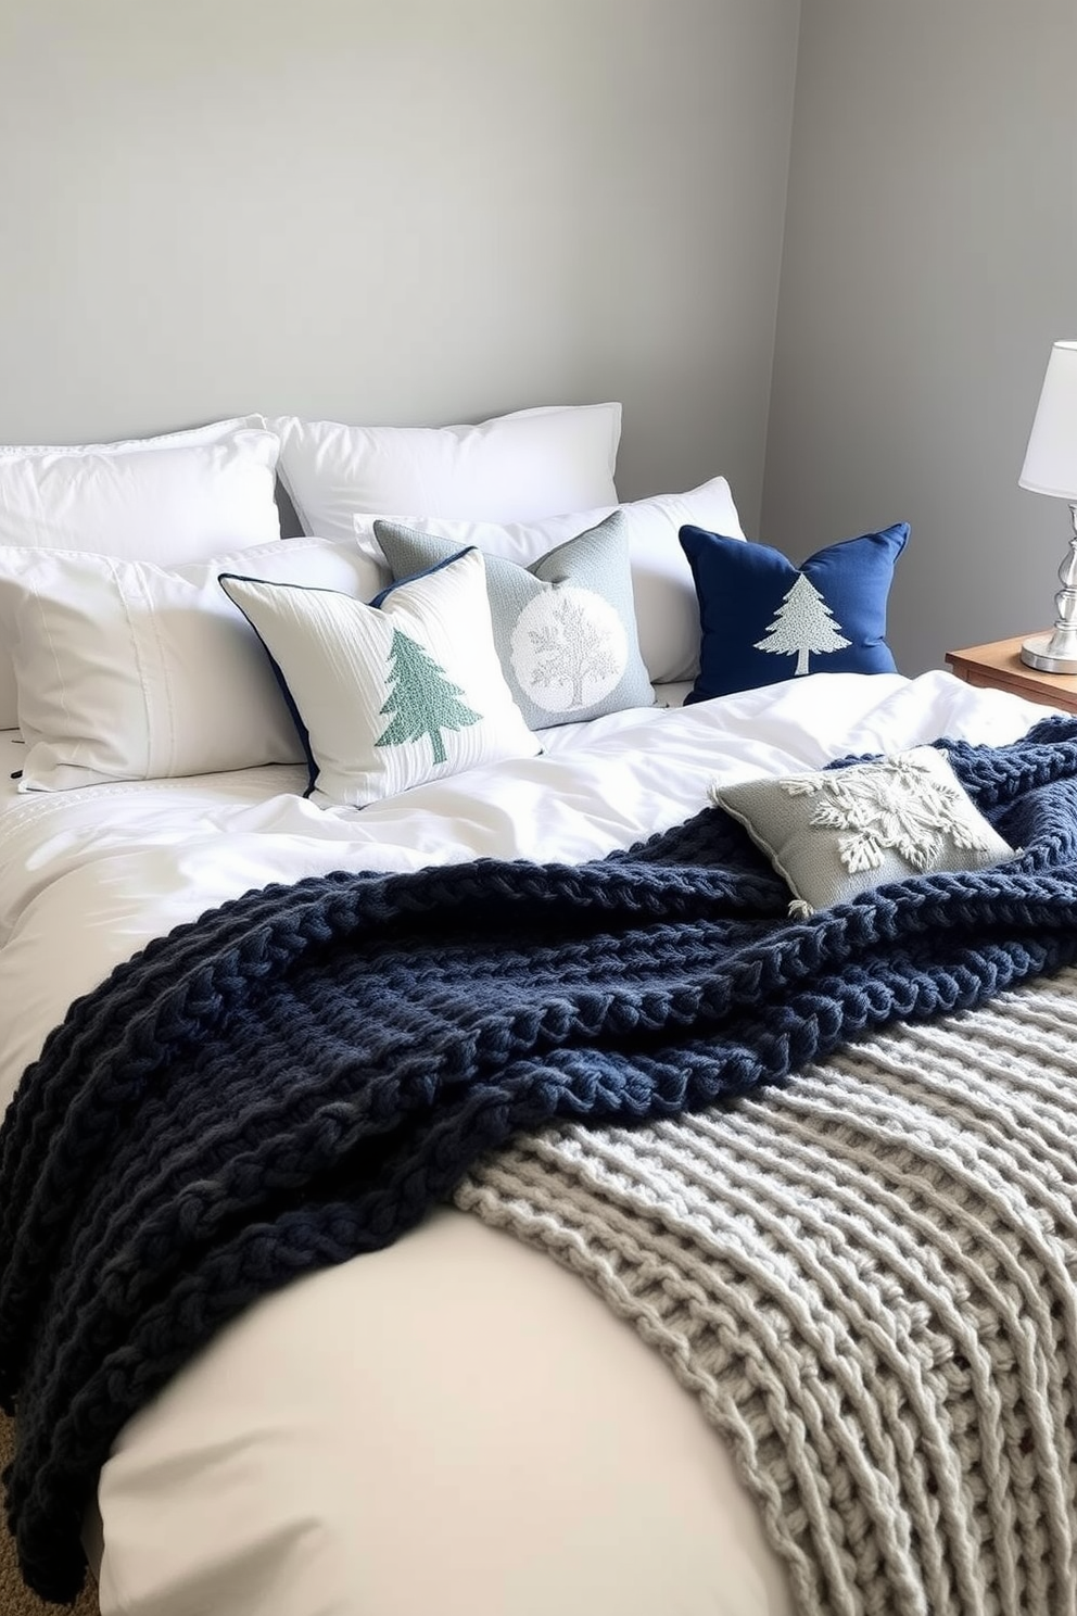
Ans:
[[[260,415],[74,448],[0,446],[0,545],[182,566],[281,535],[279,443]],[[15,675],[0,645],[0,729]]]

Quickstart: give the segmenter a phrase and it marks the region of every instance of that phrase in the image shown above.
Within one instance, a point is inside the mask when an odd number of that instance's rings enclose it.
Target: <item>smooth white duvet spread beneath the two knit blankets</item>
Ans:
[[[585,860],[715,781],[1043,708],[948,674],[820,674],[547,732],[371,808],[304,771],[18,793],[0,737],[0,1110],[76,995],[249,887],[480,855]],[[90,1521],[103,1616],[756,1616],[790,1608],[733,1467],[580,1280],[459,1212],[224,1330],[124,1429]]]

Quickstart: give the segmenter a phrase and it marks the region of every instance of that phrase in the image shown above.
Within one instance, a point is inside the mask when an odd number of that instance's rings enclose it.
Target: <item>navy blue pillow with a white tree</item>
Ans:
[[[893,674],[886,595],[909,524],[817,549],[801,567],[769,545],[683,527],[699,598],[699,677],[688,701],[798,674]]]

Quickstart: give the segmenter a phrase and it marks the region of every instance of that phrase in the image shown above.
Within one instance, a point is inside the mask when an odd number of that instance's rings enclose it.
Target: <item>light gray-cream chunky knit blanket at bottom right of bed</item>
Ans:
[[[668,1359],[801,1611],[1077,1611],[1075,970],[455,1201]]]

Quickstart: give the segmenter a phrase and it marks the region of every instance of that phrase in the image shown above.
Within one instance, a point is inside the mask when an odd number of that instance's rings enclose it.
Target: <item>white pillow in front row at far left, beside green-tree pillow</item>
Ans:
[[[297,538],[166,570],[57,549],[0,548],[0,635],[13,643],[21,790],[302,763],[304,745],[257,635],[218,574],[363,593],[354,545]]]

